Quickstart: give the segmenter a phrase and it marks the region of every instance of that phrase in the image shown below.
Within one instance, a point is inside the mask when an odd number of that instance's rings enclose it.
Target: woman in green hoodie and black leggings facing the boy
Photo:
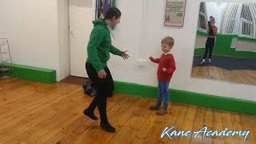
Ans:
[[[94,29],[90,34],[90,41],[87,46],[86,72],[93,82],[97,94],[90,106],[83,113],[93,120],[98,118],[94,110],[98,106],[102,130],[115,132],[106,116],[106,98],[113,94],[114,82],[106,62],[110,59],[110,53],[119,55],[125,60],[129,58],[126,51],[118,50],[111,45],[110,30],[107,26],[116,26],[120,22],[121,11],[116,7],[110,7],[104,19],[94,21]]]

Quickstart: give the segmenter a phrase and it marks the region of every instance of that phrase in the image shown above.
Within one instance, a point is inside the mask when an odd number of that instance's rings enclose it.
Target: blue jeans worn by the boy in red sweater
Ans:
[[[168,106],[169,103],[169,82],[158,81],[158,103],[162,103],[162,98],[164,98],[163,106]]]

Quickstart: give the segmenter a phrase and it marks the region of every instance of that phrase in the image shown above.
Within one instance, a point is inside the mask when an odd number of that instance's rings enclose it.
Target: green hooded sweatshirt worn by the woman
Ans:
[[[94,29],[90,33],[90,40],[87,45],[86,62],[100,71],[106,67],[106,62],[110,59],[110,53],[122,56],[122,51],[111,45],[110,30],[106,22],[102,19],[93,21]]]

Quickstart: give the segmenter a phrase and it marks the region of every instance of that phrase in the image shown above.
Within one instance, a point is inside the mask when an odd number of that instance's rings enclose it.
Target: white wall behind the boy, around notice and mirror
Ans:
[[[143,2],[148,5],[147,14],[142,14]],[[121,24],[116,27],[114,43],[122,50],[127,49],[131,57],[127,62],[122,61],[122,58],[111,57],[109,67],[114,79],[157,86],[157,65],[148,62],[146,66],[140,67],[136,66],[135,60],[147,60],[150,55],[159,57],[161,39],[171,35],[175,39],[173,53],[177,70],[170,88],[256,101],[256,86],[191,78],[199,3],[198,0],[187,0],[184,27],[177,28],[163,26],[166,0],[117,1],[117,6],[122,10],[122,19]],[[144,26],[142,19],[146,19]],[[141,54],[138,54],[139,51]]]

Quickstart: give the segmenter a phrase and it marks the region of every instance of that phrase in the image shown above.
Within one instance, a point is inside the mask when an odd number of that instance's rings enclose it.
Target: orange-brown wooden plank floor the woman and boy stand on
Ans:
[[[256,116],[178,103],[158,116],[147,109],[154,99],[126,94],[108,99],[108,117],[117,129],[109,134],[82,114],[91,100],[78,85],[1,80],[0,143],[256,143]],[[177,130],[250,130],[250,135],[246,142],[238,136],[160,139],[162,130],[174,125]]]

